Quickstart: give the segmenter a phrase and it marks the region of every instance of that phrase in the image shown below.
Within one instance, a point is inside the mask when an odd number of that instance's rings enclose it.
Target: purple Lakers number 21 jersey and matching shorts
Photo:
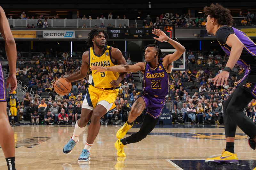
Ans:
[[[145,101],[145,108],[148,108],[146,114],[154,119],[160,116],[164,106],[165,97],[168,94],[169,74],[161,59],[157,67],[152,70],[148,62],[145,64],[143,74],[143,92],[142,98]]]

